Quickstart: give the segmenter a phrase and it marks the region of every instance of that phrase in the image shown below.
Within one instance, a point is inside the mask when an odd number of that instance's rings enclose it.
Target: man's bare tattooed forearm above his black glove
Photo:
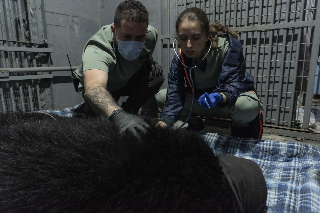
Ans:
[[[121,108],[116,104],[112,95],[102,86],[88,87],[84,97],[97,114],[108,114],[114,108]]]

